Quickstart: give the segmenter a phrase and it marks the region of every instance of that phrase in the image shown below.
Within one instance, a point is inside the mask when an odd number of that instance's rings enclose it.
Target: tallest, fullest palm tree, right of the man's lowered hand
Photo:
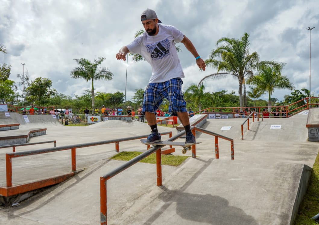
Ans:
[[[216,46],[224,43],[211,51],[209,59],[205,60],[207,66],[217,69],[217,73],[205,76],[200,82],[208,79],[221,79],[228,75],[238,79],[239,82],[239,106],[242,107],[242,89],[245,90],[245,77],[253,76],[254,71],[262,65],[269,65],[279,70],[279,64],[275,61],[260,61],[256,52],[249,54],[249,34],[244,33],[241,39],[221,38],[216,42]],[[217,60],[220,58],[221,60]],[[245,92],[245,91],[244,91]]]

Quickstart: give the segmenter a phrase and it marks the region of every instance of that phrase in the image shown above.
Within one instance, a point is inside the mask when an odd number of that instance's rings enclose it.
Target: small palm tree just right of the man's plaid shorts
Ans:
[[[197,86],[196,84],[191,84],[187,87],[184,93],[185,100],[194,102],[198,106],[199,111],[202,110],[201,101],[204,98],[213,100],[213,95],[211,95],[211,93],[209,92],[204,92],[204,90],[204,84],[201,84],[199,86]]]

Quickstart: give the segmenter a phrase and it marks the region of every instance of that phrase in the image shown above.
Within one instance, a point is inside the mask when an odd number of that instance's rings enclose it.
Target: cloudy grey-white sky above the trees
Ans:
[[[114,74],[111,81],[95,81],[95,91],[125,93],[126,62],[115,54],[129,44],[142,29],[141,12],[156,11],[163,24],[180,29],[207,59],[222,37],[240,39],[250,34],[250,53],[260,60],[286,63],[283,74],[296,89],[309,89],[309,31],[311,31],[311,91],[319,95],[319,3],[318,0],[0,0],[0,43],[7,54],[0,64],[11,65],[9,79],[18,82],[25,63],[30,79],[49,78],[52,88],[65,95],[82,95],[91,83],[70,78],[77,66],[73,59],[105,57],[102,66]],[[213,68],[199,71],[194,57],[182,43],[179,57],[184,69],[183,88],[198,83]],[[127,100],[138,88],[145,88],[151,75],[147,62],[128,58]],[[207,81],[205,91],[232,90],[238,81],[232,77]],[[19,87],[21,89],[21,87]],[[288,90],[276,90],[271,97],[282,100]],[[262,96],[267,100],[268,95]]]

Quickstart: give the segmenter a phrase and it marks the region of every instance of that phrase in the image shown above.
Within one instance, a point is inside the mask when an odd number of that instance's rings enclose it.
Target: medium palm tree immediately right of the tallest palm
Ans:
[[[280,64],[280,68],[282,69],[283,67],[284,64]],[[248,84],[256,86],[256,91],[268,92],[269,108],[271,107],[271,94],[275,89],[289,89],[291,91],[294,89],[288,77],[282,75],[280,70],[276,71],[273,67],[263,65],[258,69],[258,73],[247,81]]]

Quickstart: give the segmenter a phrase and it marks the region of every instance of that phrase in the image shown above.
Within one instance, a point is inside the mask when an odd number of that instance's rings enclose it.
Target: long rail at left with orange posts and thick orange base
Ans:
[[[169,132],[162,132],[161,135],[169,135],[172,137],[172,131]],[[53,147],[53,148],[46,148],[46,149],[39,149],[33,151],[21,151],[21,152],[13,152],[13,153],[6,153],[5,154],[5,162],[6,162],[6,186],[0,187],[0,195],[4,197],[25,193],[28,191],[36,190],[42,187],[51,186],[54,184],[58,184],[63,182],[64,180],[72,177],[76,174],[76,149],[77,148],[85,148],[90,146],[102,145],[102,144],[111,144],[115,143],[115,151],[119,151],[119,142],[123,141],[130,141],[136,139],[142,139],[148,137],[148,135],[141,135],[141,136],[134,136],[134,137],[125,137],[125,138],[118,138],[108,141],[99,141],[99,142],[91,142],[91,143],[84,143],[84,144],[75,144],[75,145],[68,145],[68,146],[61,146],[61,147]],[[50,153],[55,151],[64,151],[71,149],[71,173],[66,173],[60,176],[51,177],[48,179],[38,180],[32,183],[26,183],[22,185],[12,186],[12,158],[23,157],[23,156],[30,156],[30,155],[37,155],[43,153]]]

